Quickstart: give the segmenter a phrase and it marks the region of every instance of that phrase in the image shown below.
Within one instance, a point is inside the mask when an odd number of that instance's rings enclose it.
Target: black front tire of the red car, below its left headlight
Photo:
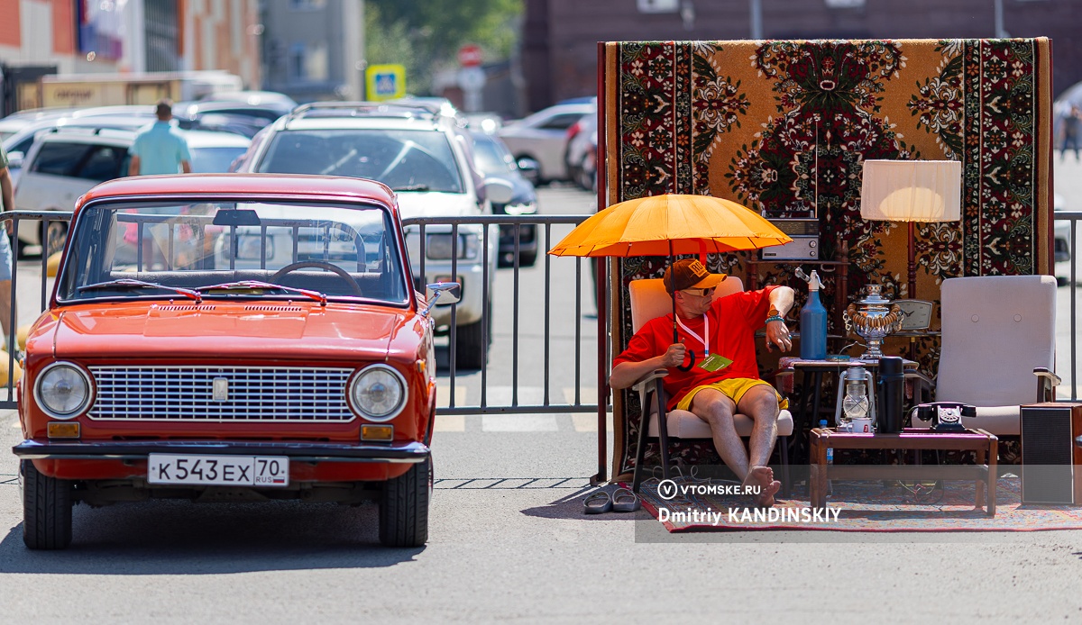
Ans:
[[[63,549],[71,544],[71,482],[19,463],[23,476],[23,542],[31,549]]]

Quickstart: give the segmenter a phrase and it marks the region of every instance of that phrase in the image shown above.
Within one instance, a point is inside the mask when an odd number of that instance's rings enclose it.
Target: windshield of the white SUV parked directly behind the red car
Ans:
[[[256,171],[370,178],[397,190],[464,192],[447,136],[431,130],[281,131]]]

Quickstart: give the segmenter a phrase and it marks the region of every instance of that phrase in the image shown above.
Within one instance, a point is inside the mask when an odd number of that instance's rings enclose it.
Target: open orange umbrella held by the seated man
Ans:
[[[598,212],[549,251],[554,256],[672,256],[756,250],[792,241],[762,215],[711,196],[665,194]],[[673,296],[673,342],[676,297]],[[679,369],[687,371],[695,363]]]

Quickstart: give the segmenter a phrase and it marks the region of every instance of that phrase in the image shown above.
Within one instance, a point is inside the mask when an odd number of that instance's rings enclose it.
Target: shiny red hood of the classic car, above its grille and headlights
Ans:
[[[118,303],[56,315],[61,358],[384,359],[419,323],[408,310],[313,302]],[[405,332],[404,332],[405,331]],[[415,334],[414,334],[415,336]]]

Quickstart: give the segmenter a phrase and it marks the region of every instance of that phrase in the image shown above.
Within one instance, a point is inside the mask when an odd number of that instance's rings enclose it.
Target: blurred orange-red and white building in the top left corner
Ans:
[[[262,84],[259,0],[0,0],[4,114],[45,74],[217,69]]]

